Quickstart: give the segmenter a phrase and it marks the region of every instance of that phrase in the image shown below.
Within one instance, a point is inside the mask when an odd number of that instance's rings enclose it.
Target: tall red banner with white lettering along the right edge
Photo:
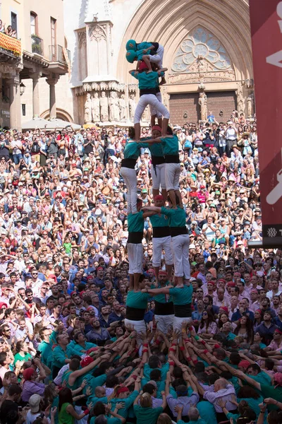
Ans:
[[[263,244],[282,246],[282,1],[250,0]]]

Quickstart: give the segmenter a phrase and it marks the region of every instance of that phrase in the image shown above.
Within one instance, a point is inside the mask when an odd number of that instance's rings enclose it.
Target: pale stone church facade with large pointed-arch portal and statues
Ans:
[[[161,93],[173,124],[209,110],[218,121],[233,110],[254,114],[246,0],[65,0],[64,8],[75,122],[133,122],[138,91],[128,73],[135,64],[125,60],[129,39],[164,46]],[[147,110],[142,122],[149,122]]]

